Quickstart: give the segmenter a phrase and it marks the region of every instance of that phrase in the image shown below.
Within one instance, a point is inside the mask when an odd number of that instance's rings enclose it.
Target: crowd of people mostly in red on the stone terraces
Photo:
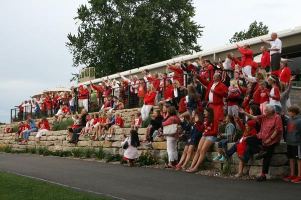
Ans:
[[[102,80],[98,85],[90,82],[97,91],[97,102],[103,101],[98,114],[88,113],[90,91],[86,85],[80,85],[79,90],[73,87],[72,93],[66,95],[48,94],[43,99],[37,98],[35,102],[46,102],[42,110],[57,107],[54,119],[58,121],[64,115],[73,114],[75,104],[83,107],[81,115],[72,115],[74,124],[68,127],[69,142],[76,143],[80,135],[91,139],[111,139],[114,130],[123,127],[118,110],[128,102],[133,107],[139,107],[139,99],[143,99],[141,112],[133,116],[130,136],[123,136],[124,159],[129,166],[138,157],[137,146],[144,144],[152,147],[154,137],[165,136],[169,158],[166,167],[196,172],[206,152],[219,137],[218,154],[213,159],[225,161],[237,152],[239,172],[235,176],[240,177],[250,154],[258,153],[256,159],[263,161],[262,173],[257,181],[263,181],[269,172],[274,148],[283,138],[287,143],[291,168],[291,174],[284,180],[301,182],[301,119],[297,117],[299,107],[290,105],[289,100],[291,81],[295,77],[291,76],[287,62],[280,61],[281,41],[277,34],[272,33],[271,38],[272,41],[262,40],[271,47],[260,48],[260,67],[253,61],[251,46],[245,44],[237,45],[241,60],[234,57],[232,52],[225,55],[225,62],[211,62],[199,56],[195,62],[179,60],[168,63],[165,73],[151,74],[144,69],[142,79],[131,74],[126,78],[117,73],[120,81],[107,78],[107,81]],[[78,103],[72,102],[76,95]],[[159,109],[153,111],[145,137],[139,141],[137,129],[156,104]],[[114,115],[112,110],[116,110]],[[285,114],[288,114],[288,119],[285,119]],[[223,120],[226,122],[225,132],[219,134],[219,124]],[[177,149],[180,136],[178,125],[183,127],[187,135],[181,158]],[[236,135],[238,126],[243,130],[241,138]],[[46,122],[41,122],[37,140],[48,127]],[[23,132],[24,136],[21,137],[25,142],[32,131],[37,131],[37,128],[29,117],[27,130],[19,131],[20,135]],[[235,143],[227,149],[229,142]],[[188,167],[195,148],[196,153]],[[297,175],[294,170],[295,159]]]

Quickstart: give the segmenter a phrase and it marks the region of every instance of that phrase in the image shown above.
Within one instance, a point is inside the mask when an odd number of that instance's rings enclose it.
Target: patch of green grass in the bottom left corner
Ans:
[[[95,199],[98,197],[89,193],[74,191],[66,187],[48,182],[0,171],[0,199],[18,200],[55,200],[55,199]]]

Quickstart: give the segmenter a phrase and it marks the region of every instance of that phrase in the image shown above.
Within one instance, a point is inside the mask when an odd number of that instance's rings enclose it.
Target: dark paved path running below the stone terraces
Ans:
[[[0,169],[126,200],[286,200],[301,196],[301,184],[281,180],[223,179],[175,170],[37,155],[0,153]]]

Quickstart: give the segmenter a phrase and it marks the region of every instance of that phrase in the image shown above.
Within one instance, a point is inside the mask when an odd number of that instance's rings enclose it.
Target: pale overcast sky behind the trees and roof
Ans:
[[[248,29],[254,20],[270,31],[301,25],[296,0],[193,0],[194,20],[205,26],[198,40],[202,49],[229,42],[235,31]],[[9,122],[10,108],[30,95],[59,85],[70,86],[72,56],[65,42],[75,33],[80,4],[87,0],[1,0],[0,12],[0,121]]]

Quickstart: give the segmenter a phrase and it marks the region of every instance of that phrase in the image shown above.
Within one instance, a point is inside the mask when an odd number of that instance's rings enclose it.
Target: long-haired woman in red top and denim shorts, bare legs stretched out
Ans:
[[[199,117],[195,116],[195,122],[199,131],[204,131],[203,136],[199,142],[197,152],[192,160],[191,166],[186,172],[197,172],[199,166],[203,163],[205,154],[209,148],[216,142],[216,136],[218,133],[218,120],[214,117],[214,112],[211,107],[204,108],[204,123],[200,125],[198,123]]]

